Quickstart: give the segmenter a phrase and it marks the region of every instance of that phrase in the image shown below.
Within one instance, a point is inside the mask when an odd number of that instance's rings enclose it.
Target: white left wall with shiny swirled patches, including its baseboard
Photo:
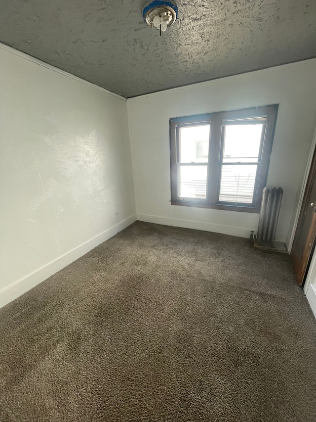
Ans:
[[[136,220],[126,100],[0,46],[0,306]]]

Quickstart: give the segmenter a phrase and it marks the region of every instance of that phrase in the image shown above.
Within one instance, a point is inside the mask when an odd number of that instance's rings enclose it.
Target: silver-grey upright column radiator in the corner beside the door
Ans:
[[[257,234],[259,246],[274,246],[282,195],[282,188],[263,189]]]

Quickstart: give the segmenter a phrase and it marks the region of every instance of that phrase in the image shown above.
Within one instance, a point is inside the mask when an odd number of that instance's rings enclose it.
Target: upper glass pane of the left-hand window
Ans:
[[[210,125],[180,127],[180,163],[207,163]]]

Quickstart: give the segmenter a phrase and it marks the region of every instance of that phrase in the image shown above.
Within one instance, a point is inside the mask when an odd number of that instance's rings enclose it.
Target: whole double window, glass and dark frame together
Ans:
[[[171,119],[171,204],[259,212],[277,107]]]

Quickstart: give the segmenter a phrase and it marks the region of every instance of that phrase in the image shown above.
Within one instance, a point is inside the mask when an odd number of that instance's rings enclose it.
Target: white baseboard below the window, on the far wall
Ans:
[[[249,237],[249,228],[226,226],[224,224],[205,223],[202,221],[183,220],[180,218],[160,217],[158,215],[148,215],[137,213],[137,220],[147,223],[163,224],[165,226],[183,227],[185,229],[203,230],[204,232],[214,232],[230,234],[237,237]]]

